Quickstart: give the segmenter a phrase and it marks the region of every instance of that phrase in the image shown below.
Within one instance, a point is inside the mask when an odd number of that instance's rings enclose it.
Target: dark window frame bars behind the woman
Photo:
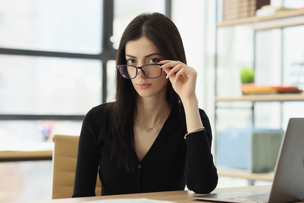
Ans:
[[[171,17],[172,1],[165,0],[165,15]],[[113,36],[113,20],[114,20],[114,0],[102,0],[102,39],[101,53],[85,54],[72,52],[56,52],[56,51],[38,51],[26,49],[8,49],[0,47],[0,54],[7,55],[23,55],[23,56],[43,56],[43,57],[59,57],[59,58],[76,58],[76,59],[94,59],[100,60],[102,63],[102,90],[101,102],[106,102],[107,98],[107,62],[116,59],[116,52],[110,38]],[[106,20],[105,20],[106,19]],[[1,114],[0,120],[83,120],[84,115],[37,115],[37,114]]]

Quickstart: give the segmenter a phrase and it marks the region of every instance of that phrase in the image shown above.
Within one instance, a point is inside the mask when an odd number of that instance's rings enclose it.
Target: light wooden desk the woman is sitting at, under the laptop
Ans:
[[[246,186],[246,187],[229,187],[229,188],[217,188],[214,192],[226,192],[232,191],[236,188],[268,188],[268,186]],[[105,200],[105,199],[119,199],[119,198],[147,198],[153,200],[163,200],[163,201],[172,201],[177,203],[207,203],[204,201],[194,200],[191,197],[199,196],[192,191],[180,190],[180,191],[169,191],[169,192],[151,192],[151,193],[138,193],[138,194],[127,194],[127,195],[110,195],[110,196],[99,196],[99,197],[82,197],[82,198],[67,198],[67,199],[56,199],[56,200],[46,200],[39,201],[39,203],[82,203],[85,201],[94,201],[94,200]],[[38,203],[38,202],[31,202]],[[211,203],[211,202],[210,202]],[[214,203],[214,202],[212,202]],[[303,203],[303,202],[299,202]]]

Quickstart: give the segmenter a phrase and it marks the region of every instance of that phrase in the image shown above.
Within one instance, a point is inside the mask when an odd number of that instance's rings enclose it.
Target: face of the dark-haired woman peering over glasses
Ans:
[[[164,60],[164,56],[158,51],[154,44],[145,37],[137,40],[128,41],[125,46],[125,57],[127,65],[142,67],[148,64],[157,64]],[[155,68],[160,68],[155,67]],[[156,69],[155,71],[160,71]],[[166,79],[167,74],[161,71],[158,78],[147,78],[141,69],[137,70],[137,75],[131,82],[141,97],[152,97],[158,94],[166,95],[169,80]]]

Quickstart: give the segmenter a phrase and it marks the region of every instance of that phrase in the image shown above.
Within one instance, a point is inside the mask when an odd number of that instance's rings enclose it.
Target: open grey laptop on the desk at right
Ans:
[[[290,118],[270,190],[240,189],[192,197],[226,203],[289,203],[304,200],[304,118]]]

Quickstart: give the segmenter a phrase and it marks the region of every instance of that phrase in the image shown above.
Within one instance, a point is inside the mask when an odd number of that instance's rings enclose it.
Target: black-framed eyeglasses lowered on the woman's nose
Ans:
[[[136,77],[138,69],[141,69],[141,72],[147,78],[158,78],[162,74],[162,64],[148,64],[142,67],[136,67],[131,65],[118,65],[117,68],[120,72],[120,75],[126,79],[133,79]]]

